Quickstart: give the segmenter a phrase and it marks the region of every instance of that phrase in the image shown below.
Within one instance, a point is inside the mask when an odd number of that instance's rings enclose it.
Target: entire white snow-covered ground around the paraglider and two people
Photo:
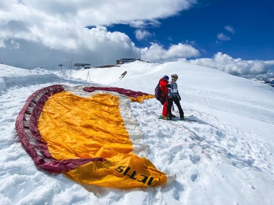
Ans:
[[[121,74],[127,71],[125,77]],[[132,102],[145,157],[177,179],[160,187],[111,189],[38,169],[15,121],[25,100],[53,84],[102,85],[154,94],[177,74],[181,105],[194,122],[158,119],[155,98]],[[0,65],[0,204],[273,204],[274,87],[183,62],[135,61],[112,68],[49,71]],[[175,106],[175,115],[179,115]]]

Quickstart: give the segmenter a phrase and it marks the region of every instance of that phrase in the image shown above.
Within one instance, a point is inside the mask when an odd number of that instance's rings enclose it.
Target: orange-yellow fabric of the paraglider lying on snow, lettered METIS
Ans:
[[[134,154],[131,134],[121,115],[125,106],[121,100],[125,96],[119,97],[121,94],[109,91],[83,97],[60,89],[45,97],[39,115],[35,114],[38,116],[35,136],[40,152],[51,162],[36,161],[36,156],[33,157],[36,165],[103,187],[147,187],[166,183],[166,174],[148,159]],[[148,94],[127,96],[138,102],[153,97]]]

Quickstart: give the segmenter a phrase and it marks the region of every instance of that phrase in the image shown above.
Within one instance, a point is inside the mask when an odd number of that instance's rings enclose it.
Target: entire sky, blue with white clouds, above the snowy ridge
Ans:
[[[0,1],[0,63],[70,69],[138,58],[274,78],[273,1]]]

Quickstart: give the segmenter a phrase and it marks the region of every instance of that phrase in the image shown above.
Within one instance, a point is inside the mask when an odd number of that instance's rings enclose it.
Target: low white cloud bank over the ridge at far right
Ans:
[[[182,61],[187,61],[182,59]],[[190,64],[196,64],[199,66],[205,66],[209,68],[216,68],[218,70],[223,70],[229,74],[234,75],[258,75],[266,74],[269,71],[269,65],[264,63],[264,61],[258,60],[242,60],[240,58],[233,59],[227,54],[221,52],[216,53],[213,58],[200,58],[200,59],[190,59],[188,61]]]

